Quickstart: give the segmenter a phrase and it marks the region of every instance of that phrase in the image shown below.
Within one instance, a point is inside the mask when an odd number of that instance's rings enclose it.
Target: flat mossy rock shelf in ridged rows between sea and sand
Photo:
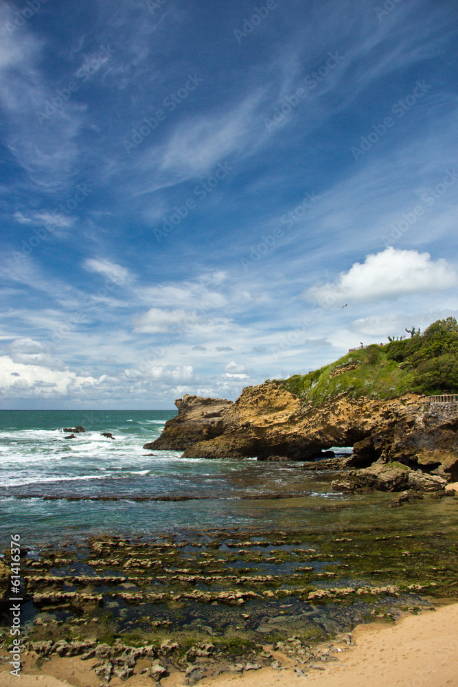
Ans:
[[[450,516],[456,506],[445,499]],[[106,535],[23,550],[23,665],[53,675],[71,659],[87,666],[84,687],[321,671],[356,625],[458,599],[453,522]],[[8,627],[1,640],[5,671]]]

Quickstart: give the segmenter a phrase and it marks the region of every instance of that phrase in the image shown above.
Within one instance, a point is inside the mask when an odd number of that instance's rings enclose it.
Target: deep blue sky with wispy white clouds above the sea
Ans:
[[[0,15],[0,407],[236,398],[458,314],[455,0]]]

